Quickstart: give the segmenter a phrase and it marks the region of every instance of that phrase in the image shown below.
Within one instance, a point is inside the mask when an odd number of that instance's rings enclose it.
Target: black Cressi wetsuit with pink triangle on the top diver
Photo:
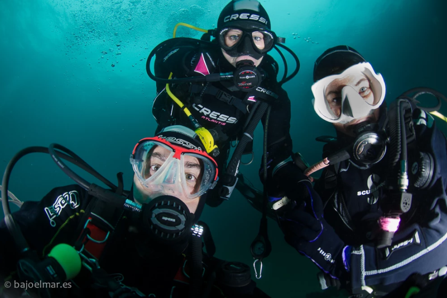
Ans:
[[[201,59],[211,74],[235,70],[225,59],[217,44],[209,43],[204,46],[197,42],[185,44],[184,41],[171,40],[156,53],[154,74],[161,78],[168,78],[170,73],[172,73],[172,78],[203,75],[195,72]],[[208,130],[216,129],[221,133],[220,140],[216,141],[220,154],[215,158],[220,174],[226,166],[230,141],[240,140],[242,137],[248,111],[251,111],[254,104],[254,101],[248,100],[251,95],[255,100],[266,100],[271,105],[267,135],[268,179],[271,178],[273,168],[292,155],[292,140],[289,133],[291,103],[287,92],[277,82],[278,64],[271,56],[266,55],[258,69],[261,69],[266,77],[257,90],[250,94],[235,90],[232,81],[182,83],[170,87],[203,127]],[[152,113],[158,123],[156,133],[170,125],[183,125],[194,130],[185,112],[169,97],[164,90],[165,87],[166,84],[157,82],[158,95],[154,99],[152,108]],[[216,90],[225,92],[228,100],[231,97],[236,100],[232,98],[231,104],[220,100],[213,94]],[[222,93],[219,95],[222,96]],[[266,115],[261,119],[263,125],[265,125],[265,119]],[[245,151],[250,152],[250,150]],[[223,202],[215,192],[218,188],[216,187],[208,195],[208,205],[217,206]]]

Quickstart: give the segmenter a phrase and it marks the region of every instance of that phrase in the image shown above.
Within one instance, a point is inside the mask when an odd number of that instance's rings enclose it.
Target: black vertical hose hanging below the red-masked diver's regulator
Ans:
[[[189,298],[199,298],[202,296],[203,284],[203,263],[202,263],[202,238],[192,235],[191,245],[191,284],[189,287]]]

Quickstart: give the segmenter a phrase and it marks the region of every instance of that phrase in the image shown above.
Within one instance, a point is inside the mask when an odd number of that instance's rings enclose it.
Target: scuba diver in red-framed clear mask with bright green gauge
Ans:
[[[0,297],[269,297],[247,265],[213,256],[216,247],[199,218],[218,168],[202,148],[182,126],[140,140],[130,155],[130,191],[123,173],[115,186],[58,144],[18,152],[1,188]],[[49,153],[77,184],[56,187],[39,202],[22,203],[12,193],[9,201],[11,170],[33,152]],[[82,179],[62,158],[110,189]],[[9,202],[20,209],[11,213]]]

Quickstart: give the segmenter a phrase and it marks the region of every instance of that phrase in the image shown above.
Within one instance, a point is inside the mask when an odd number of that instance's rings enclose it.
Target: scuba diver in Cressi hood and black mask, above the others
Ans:
[[[180,24],[204,32],[201,40],[175,38]],[[282,84],[298,73],[299,60],[283,45],[285,38],[271,30],[269,15],[256,0],[229,2],[213,30],[184,23],[177,26],[174,38],[156,46],[146,64],[149,77],[156,81],[157,96],[152,107],[158,124],[156,132],[181,124],[201,137],[206,151],[222,169],[218,185],[206,202],[217,207],[241,185],[238,174],[242,155],[251,154],[249,163],[253,161],[253,132],[259,121],[265,130],[268,152],[266,179],[263,166],[260,169],[263,183],[272,181],[274,170],[290,159],[291,103]],[[296,61],[297,67],[288,77],[285,57],[277,46],[286,49]],[[279,82],[278,63],[268,55],[272,49],[285,63],[284,77]],[[155,54],[154,75],[150,66]],[[232,142],[238,143],[227,162]]]

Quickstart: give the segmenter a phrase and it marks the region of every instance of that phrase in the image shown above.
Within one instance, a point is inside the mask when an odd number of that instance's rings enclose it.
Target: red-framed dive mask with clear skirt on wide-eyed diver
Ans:
[[[130,162],[152,199],[161,195],[194,199],[214,188],[217,182],[217,163],[207,153],[176,146],[158,137],[141,140]]]

